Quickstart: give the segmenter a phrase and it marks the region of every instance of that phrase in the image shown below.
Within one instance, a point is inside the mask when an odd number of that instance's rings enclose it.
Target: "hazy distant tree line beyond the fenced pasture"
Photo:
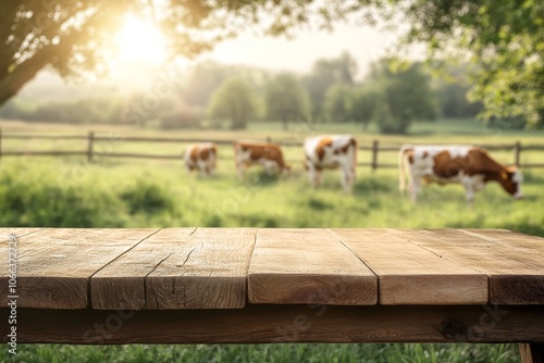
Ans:
[[[467,73],[449,65],[433,76],[429,65],[398,59],[372,64],[356,80],[357,62],[343,53],[318,60],[305,75],[202,62],[181,82],[173,97],[148,110],[143,124],[162,128],[245,128],[259,120],[375,124],[382,133],[405,134],[412,122],[437,117],[474,117],[479,102],[470,102]],[[143,93],[37,104],[14,98],[0,108],[0,117],[75,124],[123,123],[129,105]],[[523,124],[520,124],[523,126]]]

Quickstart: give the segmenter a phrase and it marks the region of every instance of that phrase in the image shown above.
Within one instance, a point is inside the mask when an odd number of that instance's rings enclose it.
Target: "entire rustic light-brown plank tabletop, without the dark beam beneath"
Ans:
[[[3,256],[10,236],[20,308],[544,304],[544,238],[504,229],[0,228]]]

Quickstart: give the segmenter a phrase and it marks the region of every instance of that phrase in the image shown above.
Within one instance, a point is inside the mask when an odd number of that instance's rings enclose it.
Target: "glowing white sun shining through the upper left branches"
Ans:
[[[127,14],[115,35],[116,54],[112,60],[123,65],[141,62],[157,65],[165,60],[166,45],[163,34],[150,21]]]

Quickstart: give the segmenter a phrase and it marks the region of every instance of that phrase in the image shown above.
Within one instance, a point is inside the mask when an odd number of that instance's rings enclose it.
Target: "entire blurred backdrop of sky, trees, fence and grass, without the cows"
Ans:
[[[544,32],[533,0],[119,0],[0,4],[0,226],[477,227],[544,236]],[[350,134],[351,195],[302,142]],[[288,175],[236,177],[271,140]],[[215,173],[188,173],[214,141]],[[524,175],[398,191],[405,143],[487,148]],[[26,361],[517,362],[509,345],[70,347]],[[5,351],[0,360],[10,361]]]

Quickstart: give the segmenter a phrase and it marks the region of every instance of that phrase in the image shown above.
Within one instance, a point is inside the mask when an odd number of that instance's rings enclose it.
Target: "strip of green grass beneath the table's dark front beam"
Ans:
[[[238,363],[510,363],[515,345],[213,345],[112,346],[21,345],[16,359],[0,351],[2,362],[238,362]]]

